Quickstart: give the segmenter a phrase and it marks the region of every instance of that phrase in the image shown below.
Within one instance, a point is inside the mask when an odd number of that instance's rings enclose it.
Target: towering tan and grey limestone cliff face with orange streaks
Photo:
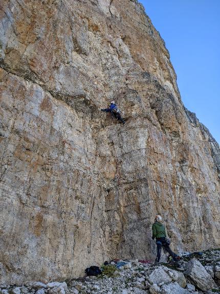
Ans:
[[[169,53],[129,0],[0,4],[0,275],[78,276],[220,244],[220,150],[181,102]],[[103,113],[115,100],[126,124]]]

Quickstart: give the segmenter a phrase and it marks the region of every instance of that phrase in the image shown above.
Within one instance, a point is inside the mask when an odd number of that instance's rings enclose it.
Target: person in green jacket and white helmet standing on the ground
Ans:
[[[162,217],[160,215],[156,215],[155,223],[152,224],[152,240],[156,238],[157,243],[157,258],[155,262],[160,261],[162,247],[164,247],[164,249],[170,254],[174,261],[178,261],[178,259],[176,258],[177,255],[172,252],[169,247],[169,243],[166,240],[165,227],[161,223],[161,221]]]

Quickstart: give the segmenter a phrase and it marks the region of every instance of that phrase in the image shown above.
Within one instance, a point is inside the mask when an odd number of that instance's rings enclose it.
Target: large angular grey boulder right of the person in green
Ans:
[[[190,279],[192,284],[202,291],[208,291],[216,287],[214,280],[206,271],[205,267],[195,258],[186,264],[185,275]]]

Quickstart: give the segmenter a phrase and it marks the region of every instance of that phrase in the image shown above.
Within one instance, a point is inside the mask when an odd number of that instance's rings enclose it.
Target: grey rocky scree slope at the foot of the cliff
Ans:
[[[201,254],[202,252],[200,252]],[[185,256],[179,263],[115,261],[101,275],[65,282],[29,282],[2,287],[2,294],[212,294],[220,293],[220,251]],[[116,264],[116,265],[115,265]],[[204,264],[204,266],[202,265]],[[66,283],[67,282],[67,283]],[[0,289],[1,291],[1,289]]]

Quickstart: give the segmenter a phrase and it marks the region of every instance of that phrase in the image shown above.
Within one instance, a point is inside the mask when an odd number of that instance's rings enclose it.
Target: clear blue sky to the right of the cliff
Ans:
[[[160,32],[186,108],[220,143],[220,0],[139,0]]]

